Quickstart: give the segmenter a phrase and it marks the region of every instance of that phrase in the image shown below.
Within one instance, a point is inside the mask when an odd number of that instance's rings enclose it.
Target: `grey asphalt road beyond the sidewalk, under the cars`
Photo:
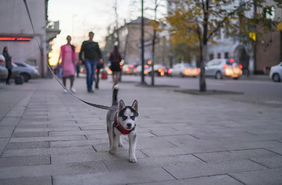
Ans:
[[[140,76],[126,76],[125,79],[141,81]],[[146,76],[145,82],[150,84],[151,77]],[[182,89],[199,89],[199,78],[155,77],[155,84],[179,85]],[[214,97],[282,107],[282,83],[272,82],[267,77],[249,79],[241,77],[239,80],[206,78],[206,84],[208,90],[244,92],[241,95],[214,95]]]

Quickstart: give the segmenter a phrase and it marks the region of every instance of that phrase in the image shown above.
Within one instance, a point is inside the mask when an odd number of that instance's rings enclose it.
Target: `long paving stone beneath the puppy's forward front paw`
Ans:
[[[135,154],[137,161],[139,158],[147,157],[140,150],[136,150]],[[128,159],[128,149],[123,151],[120,151],[118,149],[116,154],[110,154],[110,152],[95,152],[95,153],[93,152],[93,153],[51,155],[51,164],[117,160],[117,159]]]

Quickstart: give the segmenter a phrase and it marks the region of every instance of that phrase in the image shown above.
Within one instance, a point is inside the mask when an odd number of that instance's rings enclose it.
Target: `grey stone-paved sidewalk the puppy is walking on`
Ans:
[[[110,105],[110,78],[94,94],[78,78],[75,95]],[[140,105],[135,164],[127,137],[108,152],[107,111],[55,79],[0,83],[0,184],[282,184],[282,108],[123,81],[119,99]]]

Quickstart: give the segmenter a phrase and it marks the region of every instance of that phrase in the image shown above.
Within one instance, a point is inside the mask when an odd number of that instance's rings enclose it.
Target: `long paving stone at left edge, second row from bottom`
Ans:
[[[44,164],[0,168],[0,179],[39,177],[63,174],[97,173],[109,171],[103,162],[79,162],[66,164]],[[105,178],[105,177],[103,177]]]

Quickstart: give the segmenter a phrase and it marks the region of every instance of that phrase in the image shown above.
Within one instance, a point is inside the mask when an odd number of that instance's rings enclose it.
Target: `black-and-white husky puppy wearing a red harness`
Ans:
[[[120,100],[117,102],[118,85],[113,88],[112,107],[117,107],[117,111],[107,112],[107,131],[109,134],[109,149],[111,154],[117,152],[118,147],[122,147],[121,134],[128,135],[129,140],[129,162],[135,163],[136,148],[136,121],[139,116],[138,102],[135,100],[132,106],[125,106]]]

